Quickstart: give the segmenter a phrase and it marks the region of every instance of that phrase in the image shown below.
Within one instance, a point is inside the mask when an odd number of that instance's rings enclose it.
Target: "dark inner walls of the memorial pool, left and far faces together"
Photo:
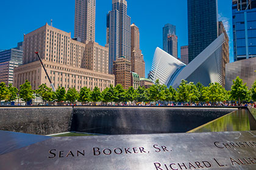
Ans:
[[[0,130],[48,135],[187,132],[234,109],[175,107],[0,107]]]

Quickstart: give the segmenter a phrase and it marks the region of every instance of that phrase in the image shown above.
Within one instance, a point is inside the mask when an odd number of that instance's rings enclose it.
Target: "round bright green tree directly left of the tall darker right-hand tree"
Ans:
[[[219,83],[210,83],[203,90],[203,96],[206,101],[212,101],[215,104],[217,101],[226,100],[227,91]]]

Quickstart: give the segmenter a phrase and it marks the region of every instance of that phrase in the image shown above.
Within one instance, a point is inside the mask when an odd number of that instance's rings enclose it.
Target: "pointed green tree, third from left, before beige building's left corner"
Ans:
[[[20,98],[26,102],[32,100],[32,98],[35,98],[34,90],[32,90],[30,82],[27,80],[24,84],[21,84],[19,94],[20,94]]]

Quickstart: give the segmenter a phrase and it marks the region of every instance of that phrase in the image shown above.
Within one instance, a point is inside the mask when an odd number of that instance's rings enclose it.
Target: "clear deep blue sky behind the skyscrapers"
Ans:
[[[74,35],[75,0],[1,0],[0,5],[0,49],[16,47],[23,41],[23,33],[32,32],[50,23]],[[180,46],[188,44],[187,0],[127,0],[128,15],[140,28],[140,45],[146,62],[146,74],[151,69],[156,47],[162,48],[162,27],[169,23],[176,25],[179,56]],[[105,46],[106,15],[112,10],[112,0],[96,0],[96,42]],[[230,38],[230,62],[233,62],[232,1],[218,1],[219,19]]]

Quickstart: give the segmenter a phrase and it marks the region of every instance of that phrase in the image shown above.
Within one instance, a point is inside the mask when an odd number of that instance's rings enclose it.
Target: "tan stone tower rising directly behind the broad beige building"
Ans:
[[[96,0],[76,0],[74,36],[95,41]]]

